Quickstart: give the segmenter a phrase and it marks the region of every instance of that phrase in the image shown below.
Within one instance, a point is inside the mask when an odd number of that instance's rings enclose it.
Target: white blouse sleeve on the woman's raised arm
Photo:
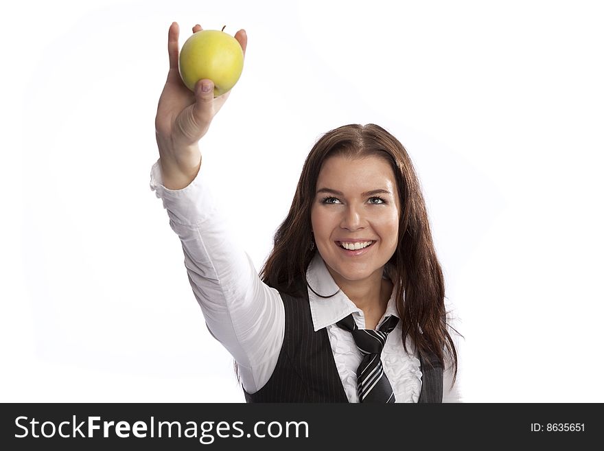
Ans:
[[[279,292],[260,280],[235,242],[202,170],[187,187],[167,189],[158,160],[150,188],[163,200],[170,227],[181,239],[189,282],[210,333],[237,361],[244,389],[255,393],[268,382],[283,344]]]

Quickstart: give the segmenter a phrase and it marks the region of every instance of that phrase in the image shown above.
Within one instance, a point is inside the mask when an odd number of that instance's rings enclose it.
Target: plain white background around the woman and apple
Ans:
[[[248,33],[200,146],[258,270],[316,139],[380,124],[421,179],[465,400],[604,402],[599,2],[1,8],[1,401],[244,401],[149,188],[177,21],[181,46]]]

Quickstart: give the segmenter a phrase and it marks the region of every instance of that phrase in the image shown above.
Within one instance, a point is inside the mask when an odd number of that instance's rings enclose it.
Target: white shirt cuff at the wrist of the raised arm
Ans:
[[[151,167],[151,191],[163,201],[170,220],[181,225],[196,225],[206,220],[216,209],[213,193],[201,170],[183,189],[168,189],[163,185],[159,159]]]

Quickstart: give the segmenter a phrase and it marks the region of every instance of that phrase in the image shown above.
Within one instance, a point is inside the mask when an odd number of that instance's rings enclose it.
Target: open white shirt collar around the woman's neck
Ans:
[[[384,270],[384,277],[387,277],[388,268]],[[312,325],[314,332],[328,325],[332,325],[345,318],[349,314],[353,314],[357,325],[364,327],[364,314],[363,311],[358,308],[353,301],[348,299],[346,294],[340,290],[340,287],[334,281],[334,278],[327,270],[325,262],[318,252],[315,253],[314,257],[310,261],[306,270],[306,279],[308,284],[312,287],[312,290],[316,291],[321,296],[330,296],[323,298],[317,296],[312,292],[310,288],[308,290],[308,301],[310,303],[310,313],[312,315]],[[336,293],[334,296],[332,294]],[[386,313],[380,319],[380,324],[384,321],[384,318],[389,315],[399,317],[396,309],[396,286],[392,290],[390,299],[388,299],[388,305],[386,306]]]

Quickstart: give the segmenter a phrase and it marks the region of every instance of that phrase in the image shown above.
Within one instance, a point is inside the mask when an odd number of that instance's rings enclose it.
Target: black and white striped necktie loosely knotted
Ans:
[[[352,314],[349,314],[336,323],[351,332],[363,356],[356,370],[359,402],[395,402],[395,395],[384,373],[380,356],[388,333],[396,327],[398,321],[396,316],[391,315],[378,330],[359,329]]]

